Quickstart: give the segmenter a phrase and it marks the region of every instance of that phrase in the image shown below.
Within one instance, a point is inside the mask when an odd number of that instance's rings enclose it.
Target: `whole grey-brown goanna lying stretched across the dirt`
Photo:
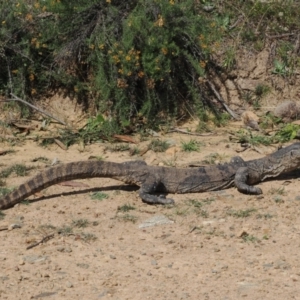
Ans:
[[[199,168],[148,166],[144,161],[125,163],[80,161],[58,165],[43,171],[0,199],[6,209],[53,184],[66,180],[109,177],[140,187],[142,201],[149,204],[173,204],[174,200],[156,193],[198,193],[222,190],[235,185],[242,193],[261,194],[252,186],[270,177],[300,167],[300,143],[294,143],[260,159],[244,161],[233,157],[230,163]]]

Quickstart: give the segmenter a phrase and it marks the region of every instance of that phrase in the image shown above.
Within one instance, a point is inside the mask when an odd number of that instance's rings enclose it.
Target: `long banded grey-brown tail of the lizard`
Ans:
[[[0,199],[0,209],[12,207],[34,193],[63,181],[124,176],[128,171],[128,168],[122,168],[119,163],[103,161],[80,161],[58,165],[37,174]]]

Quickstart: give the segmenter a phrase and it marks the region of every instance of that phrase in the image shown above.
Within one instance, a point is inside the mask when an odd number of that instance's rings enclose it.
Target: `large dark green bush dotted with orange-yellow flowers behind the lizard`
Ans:
[[[122,128],[204,109],[198,79],[223,30],[193,0],[13,0],[0,11],[0,93],[64,88]]]

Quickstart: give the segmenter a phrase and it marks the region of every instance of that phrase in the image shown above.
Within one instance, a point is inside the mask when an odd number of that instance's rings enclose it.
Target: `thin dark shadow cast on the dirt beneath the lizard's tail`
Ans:
[[[88,194],[92,192],[103,192],[103,191],[137,191],[139,189],[138,186],[134,185],[112,185],[112,186],[107,186],[107,187],[93,187],[93,188],[88,188],[88,189],[83,189],[83,190],[75,190],[75,191],[69,191],[69,192],[62,192],[58,194],[51,194],[48,196],[42,196],[38,197],[35,199],[30,199],[30,203],[34,202],[39,202],[39,201],[44,201],[48,199],[52,199],[55,197],[60,197],[60,196],[72,196],[72,195],[80,195],[80,194]]]

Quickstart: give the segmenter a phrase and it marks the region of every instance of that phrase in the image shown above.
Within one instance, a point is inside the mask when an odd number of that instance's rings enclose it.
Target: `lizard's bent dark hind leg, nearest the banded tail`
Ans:
[[[148,204],[174,204],[174,200],[166,198],[164,195],[151,195],[156,192],[158,187],[158,180],[154,176],[149,176],[147,180],[141,185],[139,195],[143,202]]]

